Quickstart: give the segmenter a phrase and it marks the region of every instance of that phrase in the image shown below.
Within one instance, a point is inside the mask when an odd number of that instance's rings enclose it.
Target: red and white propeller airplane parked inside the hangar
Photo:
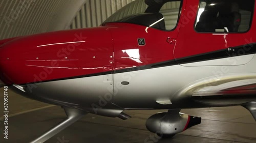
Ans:
[[[168,109],[146,122],[173,136],[200,124],[184,108],[241,105],[256,119],[254,0],[136,0],[99,27],[0,41],[0,78],[20,95],[86,113]],[[254,47],[255,46],[255,47]]]

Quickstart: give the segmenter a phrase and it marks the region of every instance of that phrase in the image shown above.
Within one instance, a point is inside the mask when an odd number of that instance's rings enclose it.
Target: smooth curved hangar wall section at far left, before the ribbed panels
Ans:
[[[2,0],[0,39],[69,28],[87,0]]]

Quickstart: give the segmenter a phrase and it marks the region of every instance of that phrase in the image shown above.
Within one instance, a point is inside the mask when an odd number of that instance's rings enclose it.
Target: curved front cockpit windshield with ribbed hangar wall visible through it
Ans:
[[[136,0],[106,19],[106,22],[125,22],[174,30],[178,23],[181,1],[177,0]]]

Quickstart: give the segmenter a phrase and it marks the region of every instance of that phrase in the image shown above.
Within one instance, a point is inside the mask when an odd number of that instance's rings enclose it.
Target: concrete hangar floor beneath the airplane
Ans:
[[[3,98],[2,93],[3,89],[0,89],[0,98]],[[0,105],[3,106],[3,99],[0,99]],[[26,99],[9,91],[9,135],[4,139],[3,107],[0,109],[0,142],[5,143],[29,142],[66,117],[58,106]],[[202,123],[173,139],[160,140],[145,128],[146,119],[156,112],[159,110],[125,111],[132,116],[126,121],[89,114],[46,142],[256,142],[256,123],[243,107],[184,109],[184,113],[202,117]]]

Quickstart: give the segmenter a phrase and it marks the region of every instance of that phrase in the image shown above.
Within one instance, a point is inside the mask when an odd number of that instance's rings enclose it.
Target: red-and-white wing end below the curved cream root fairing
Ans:
[[[245,79],[206,86],[196,90],[192,98],[205,104],[243,104],[256,101],[256,79]]]

